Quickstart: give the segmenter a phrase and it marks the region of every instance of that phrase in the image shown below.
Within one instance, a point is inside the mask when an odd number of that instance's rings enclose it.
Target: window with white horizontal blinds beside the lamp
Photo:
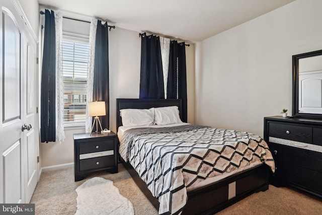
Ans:
[[[85,125],[88,80],[88,42],[77,39],[62,41],[64,84],[64,125]]]

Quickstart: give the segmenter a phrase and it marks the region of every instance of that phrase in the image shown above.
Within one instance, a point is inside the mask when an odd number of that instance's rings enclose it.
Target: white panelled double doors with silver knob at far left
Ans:
[[[37,45],[11,1],[1,12],[0,202],[29,203],[38,180]]]

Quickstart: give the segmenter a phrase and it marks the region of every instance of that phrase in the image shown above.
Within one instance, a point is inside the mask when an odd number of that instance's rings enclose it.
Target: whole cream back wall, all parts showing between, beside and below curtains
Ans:
[[[194,45],[186,47],[188,82],[188,121],[194,120]],[[116,132],[116,98],[139,98],[141,38],[139,32],[122,28],[109,32],[110,129]],[[40,145],[42,167],[73,163],[73,133],[85,128],[65,130],[62,144]]]

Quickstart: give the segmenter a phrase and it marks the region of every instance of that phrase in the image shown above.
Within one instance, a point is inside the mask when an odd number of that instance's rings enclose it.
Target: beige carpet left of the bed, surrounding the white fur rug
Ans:
[[[119,172],[116,174],[102,171],[77,182],[74,182],[73,168],[44,172],[30,203],[35,203],[36,214],[74,214],[77,197],[75,189],[93,177],[113,181],[120,194],[132,202],[135,214],[157,214],[156,209],[135,185],[123,165],[119,165]]]

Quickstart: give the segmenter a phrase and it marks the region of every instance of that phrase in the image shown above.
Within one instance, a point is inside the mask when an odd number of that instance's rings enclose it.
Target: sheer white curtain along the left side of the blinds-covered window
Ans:
[[[56,31],[56,142],[65,138],[64,131],[64,85],[62,77],[62,14],[55,12]]]

